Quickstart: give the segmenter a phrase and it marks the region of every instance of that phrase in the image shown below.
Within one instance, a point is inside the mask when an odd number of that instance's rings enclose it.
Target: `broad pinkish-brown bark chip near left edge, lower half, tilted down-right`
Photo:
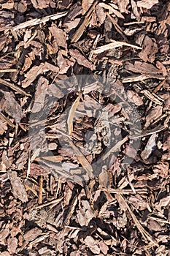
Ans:
[[[14,197],[21,200],[22,203],[26,203],[28,201],[26,189],[23,186],[23,183],[20,181],[20,178],[18,178],[17,172],[8,170],[7,173],[12,185],[12,192]]]

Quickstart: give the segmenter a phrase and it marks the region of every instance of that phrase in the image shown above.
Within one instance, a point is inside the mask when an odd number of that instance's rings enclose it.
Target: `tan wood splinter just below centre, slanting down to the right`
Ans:
[[[85,158],[82,152],[77,148],[77,146],[74,145],[74,143],[70,139],[69,139],[69,145],[72,147],[74,153],[76,154],[77,161],[80,162],[82,167],[88,173],[88,177],[93,178],[93,168],[90,165],[90,162],[88,162],[88,160]]]

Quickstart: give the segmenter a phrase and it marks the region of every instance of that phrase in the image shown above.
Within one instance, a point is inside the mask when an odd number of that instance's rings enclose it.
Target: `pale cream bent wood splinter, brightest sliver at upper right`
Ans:
[[[128,42],[122,42],[122,41],[115,41],[113,40],[114,42],[110,42],[109,44],[107,45],[102,45],[98,48],[96,48],[96,50],[93,50],[93,53],[94,54],[99,54],[99,53],[103,53],[105,50],[112,50],[114,48],[117,48],[117,47],[120,47],[120,46],[129,46],[131,48],[135,48],[135,49],[139,49],[139,50],[142,50],[141,47],[137,46],[137,45],[131,45],[129,44]]]

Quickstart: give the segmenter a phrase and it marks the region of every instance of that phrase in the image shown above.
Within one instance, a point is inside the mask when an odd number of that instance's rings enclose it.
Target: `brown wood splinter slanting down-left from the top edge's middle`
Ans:
[[[77,42],[78,39],[80,39],[80,37],[84,33],[85,28],[90,23],[90,19],[91,19],[92,15],[93,15],[93,12],[95,10],[95,7],[96,7],[97,3],[98,3],[98,1],[95,1],[94,4],[92,5],[92,7],[90,7],[90,10],[88,11],[87,15],[85,16],[85,20],[82,22],[82,24],[80,25],[79,29],[77,29],[76,33],[72,37],[72,42]]]

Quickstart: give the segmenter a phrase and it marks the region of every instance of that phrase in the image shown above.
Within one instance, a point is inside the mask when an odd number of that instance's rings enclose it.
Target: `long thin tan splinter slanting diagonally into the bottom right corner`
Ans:
[[[135,214],[133,213],[133,211],[131,211],[131,208],[128,206],[128,203],[126,203],[125,198],[123,197],[123,195],[119,195],[119,197],[123,201],[125,206],[128,208],[128,211],[131,214],[132,219],[134,220],[134,224],[138,228],[139,232],[142,234],[144,240],[146,241],[146,239],[147,239],[147,240],[151,241],[152,244],[159,247],[159,244],[157,243],[157,241],[155,241],[155,239],[153,239],[152,236],[150,236],[150,233],[148,233],[147,230],[145,230],[144,227],[142,227],[139,220],[136,218]]]

